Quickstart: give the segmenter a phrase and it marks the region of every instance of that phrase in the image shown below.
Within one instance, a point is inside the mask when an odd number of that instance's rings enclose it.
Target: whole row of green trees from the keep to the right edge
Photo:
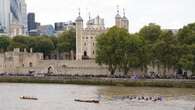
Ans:
[[[97,39],[96,62],[108,65],[111,74],[131,68],[147,70],[149,64],[168,69],[195,72],[195,23],[184,26],[174,35],[156,24],[129,34],[113,27]]]

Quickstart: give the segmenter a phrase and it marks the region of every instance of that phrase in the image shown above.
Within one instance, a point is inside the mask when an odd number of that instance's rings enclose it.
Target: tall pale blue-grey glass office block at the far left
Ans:
[[[25,0],[0,0],[1,30],[9,36],[25,35]]]

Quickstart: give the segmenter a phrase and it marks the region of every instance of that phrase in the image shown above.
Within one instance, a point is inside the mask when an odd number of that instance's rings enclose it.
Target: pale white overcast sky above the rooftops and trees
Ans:
[[[36,13],[41,24],[65,22],[81,15],[86,22],[91,17],[105,19],[106,27],[114,25],[116,6],[120,13],[125,8],[130,22],[130,32],[137,32],[144,25],[153,22],[162,28],[178,29],[195,22],[195,0],[26,0],[28,12]]]

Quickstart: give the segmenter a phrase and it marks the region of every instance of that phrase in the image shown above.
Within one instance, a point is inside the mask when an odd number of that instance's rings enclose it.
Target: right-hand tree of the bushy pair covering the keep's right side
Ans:
[[[121,42],[120,69],[127,75],[132,68],[147,69],[148,56],[144,39],[138,35],[130,35]]]

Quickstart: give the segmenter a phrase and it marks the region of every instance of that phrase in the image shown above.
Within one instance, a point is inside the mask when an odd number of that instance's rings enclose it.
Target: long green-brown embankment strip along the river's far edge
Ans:
[[[195,88],[195,80],[130,80],[111,78],[63,78],[63,77],[0,77],[0,82],[8,83],[54,83],[79,85],[110,85],[129,87],[177,87]]]

